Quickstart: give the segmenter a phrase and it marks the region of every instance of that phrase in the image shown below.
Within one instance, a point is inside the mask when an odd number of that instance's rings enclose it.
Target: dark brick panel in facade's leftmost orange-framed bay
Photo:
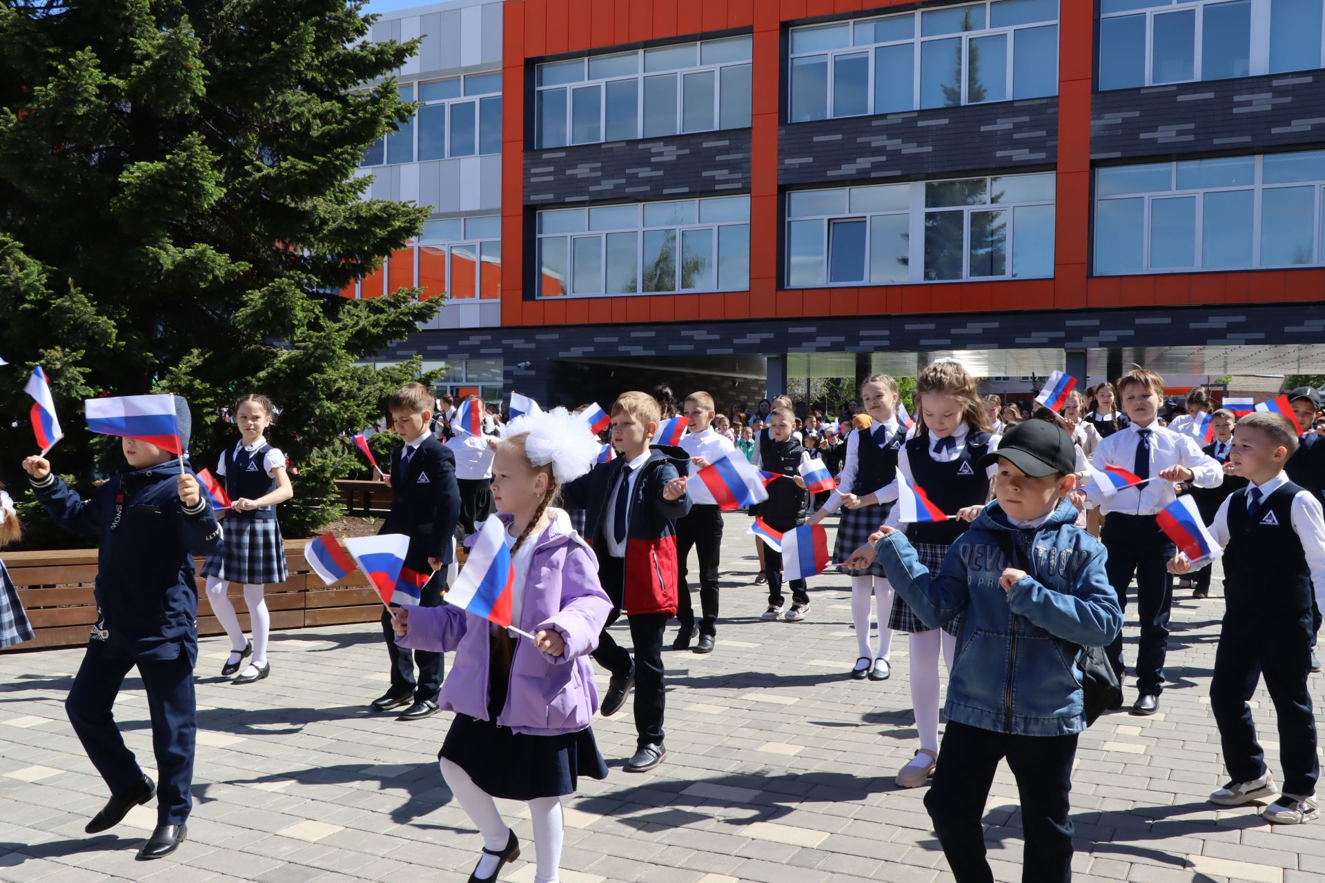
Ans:
[[[750,192],[750,130],[525,152],[525,205]]]

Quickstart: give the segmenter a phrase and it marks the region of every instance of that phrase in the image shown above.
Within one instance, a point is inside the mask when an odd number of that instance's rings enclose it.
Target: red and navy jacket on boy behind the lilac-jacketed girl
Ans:
[[[603,531],[611,524],[608,502],[625,466],[617,457],[599,463],[587,475],[566,486],[566,508],[583,508],[584,539],[598,555],[599,571],[615,567],[617,559],[607,553]],[[677,564],[676,520],[690,511],[690,495],[668,500],[662,488],[669,481],[685,475],[689,455],[680,447],[657,445],[640,467],[625,524],[625,579],[621,608],[627,613],[676,613]]]

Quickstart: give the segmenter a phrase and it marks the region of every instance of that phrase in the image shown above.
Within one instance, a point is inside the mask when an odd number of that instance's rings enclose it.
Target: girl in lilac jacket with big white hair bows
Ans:
[[[456,606],[401,608],[396,643],[454,651],[439,704],[456,719],[441,774],[484,838],[470,883],[496,880],[519,842],[494,797],[529,804],[535,883],[555,883],[563,839],[560,797],[579,776],[606,778],[590,720],[598,690],[588,654],[612,610],[594,552],[554,508],[560,486],[587,473],[598,442],[563,409],[511,421],[493,461],[493,500],[506,528],[514,584],[511,622],[534,641]]]

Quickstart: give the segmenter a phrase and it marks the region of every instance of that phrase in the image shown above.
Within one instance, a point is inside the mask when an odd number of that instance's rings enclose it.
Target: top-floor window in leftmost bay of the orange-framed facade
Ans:
[[[538,148],[750,124],[750,37],[538,65]]]

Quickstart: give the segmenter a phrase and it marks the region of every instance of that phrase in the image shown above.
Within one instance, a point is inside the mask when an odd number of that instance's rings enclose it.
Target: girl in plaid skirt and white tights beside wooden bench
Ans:
[[[228,511],[217,512],[217,518],[225,516],[225,536],[203,565],[203,576],[207,577],[207,600],[212,604],[212,613],[231,638],[231,657],[221,675],[228,678],[240,670],[246,657],[253,657],[235,683],[261,680],[272,671],[266,661],[272,618],[262,596],[268,582],[285,582],[289,576],[276,507],[294,496],[294,488],[285,471],[285,454],[265,438],[273,413],[266,396],[249,395],[236,401],[233,414],[240,441],[221,454],[216,465],[216,474],[225,479],[233,502]],[[231,604],[231,582],[244,585],[244,602],[253,627],[252,642],[244,639],[244,627]]]

